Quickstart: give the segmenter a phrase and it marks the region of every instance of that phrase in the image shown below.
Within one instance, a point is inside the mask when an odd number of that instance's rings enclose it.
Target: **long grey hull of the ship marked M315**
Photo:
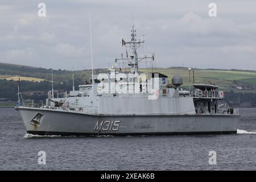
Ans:
[[[99,115],[18,107],[38,135],[176,135],[237,133],[238,114]]]

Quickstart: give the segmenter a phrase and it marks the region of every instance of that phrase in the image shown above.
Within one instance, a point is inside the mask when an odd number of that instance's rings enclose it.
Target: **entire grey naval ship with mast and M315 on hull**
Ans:
[[[79,90],[62,98],[49,91],[46,105],[26,106],[19,91],[18,105],[28,134],[34,135],[189,135],[237,133],[238,109],[222,101],[224,92],[214,84],[193,82],[181,88],[183,78],[170,80],[158,72],[139,71],[139,63],[155,61],[155,55],[138,56],[144,40],[137,40],[134,26],[131,39],[122,46],[131,55],[115,59],[106,73],[93,74]],[[122,71],[117,63],[126,64]],[[189,70],[190,73],[190,70]],[[190,74],[189,74],[190,80]],[[190,82],[190,81],[189,81]],[[20,90],[20,89],[19,89]]]

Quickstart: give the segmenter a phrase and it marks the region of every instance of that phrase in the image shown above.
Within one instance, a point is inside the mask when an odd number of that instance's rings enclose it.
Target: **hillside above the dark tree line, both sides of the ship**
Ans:
[[[224,69],[196,69],[195,82],[216,84],[220,89],[225,91],[233,90],[237,93],[255,93],[256,92],[256,71],[243,71],[243,70],[224,70]],[[191,82],[193,82],[193,72],[191,70]],[[183,77],[183,86],[189,85],[189,72],[188,68],[184,67],[171,67],[171,68],[156,68],[156,69],[140,69],[141,72],[160,72],[171,78],[174,75],[181,75]],[[104,69],[96,69],[96,74],[105,72]],[[51,80],[51,69],[28,67],[24,65],[0,63],[0,80],[17,80],[17,75],[22,76],[22,80],[27,81],[43,81]],[[91,71],[75,71],[76,86],[83,84],[91,76]],[[62,82],[64,84],[72,84],[72,72],[66,70],[54,70],[54,81]],[[241,87],[242,89],[237,89]]]

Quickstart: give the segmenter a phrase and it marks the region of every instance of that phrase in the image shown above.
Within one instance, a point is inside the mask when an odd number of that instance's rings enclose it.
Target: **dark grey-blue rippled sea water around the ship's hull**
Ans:
[[[256,169],[256,109],[240,109],[238,134],[163,137],[31,137],[14,109],[0,109],[0,169]],[[46,164],[38,164],[38,152]],[[216,151],[217,164],[209,164]]]

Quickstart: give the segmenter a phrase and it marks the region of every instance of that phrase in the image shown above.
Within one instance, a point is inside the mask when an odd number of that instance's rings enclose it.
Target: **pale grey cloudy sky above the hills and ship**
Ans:
[[[46,17],[38,4],[46,3]],[[209,3],[217,17],[209,17]],[[0,0],[0,62],[34,67],[89,69],[89,14],[96,68],[114,63],[130,39],[132,15],[139,55],[156,55],[156,67],[256,70],[255,0]],[[128,50],[129,51],[129,50]],[[141,65],[150,67],[150,65]]]

